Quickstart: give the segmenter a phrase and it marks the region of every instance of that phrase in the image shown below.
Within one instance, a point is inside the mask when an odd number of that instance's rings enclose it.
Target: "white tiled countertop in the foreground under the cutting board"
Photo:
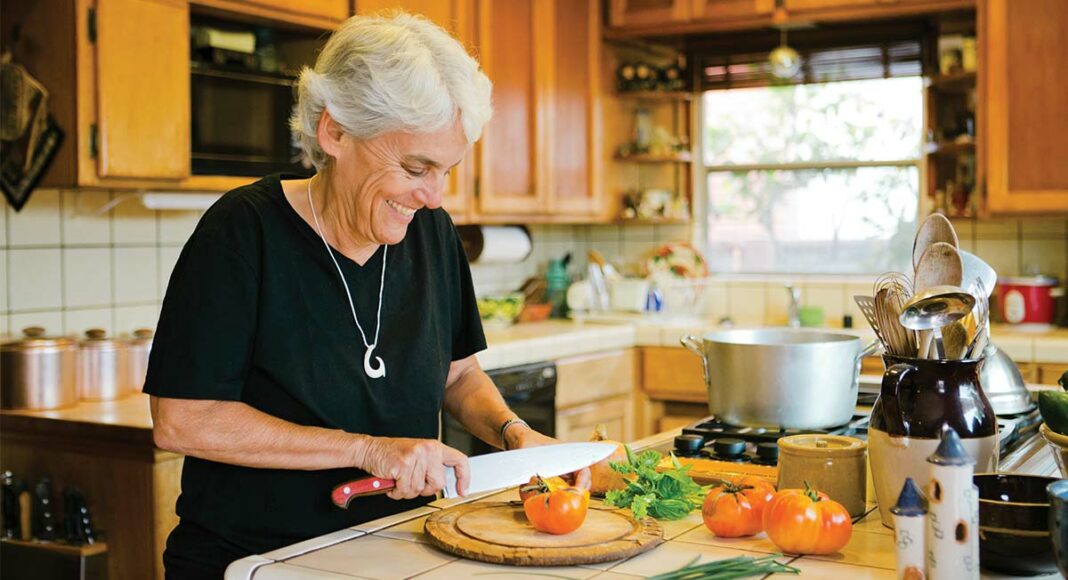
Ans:
[[[632,445],[635,449],[657,446],[678,434],[677,429],[666,432]],[[1041,452],[1049,454],[1045,445]],[[1025,466],[1019,467],[1026,470]],[[238,560],[227,568],[226,580],[452,579],[475,576],[627,580],[666,573],[694,560],[708,562],[739,555],[760,558],[780,551],[763,533],[742,538],[717,537],[705,528],[700,512],[681,520],[662,521],[665,542],[648,552],[626,560],[583,566],[517,567],[464,560],[430,546],[423,532],[427,516],[437,510],[467,501],[518,499],[518,491],[509,489],[468,499],[438,500],[426,507]],[[597,503],[594,500],[591,505]],[[841,551],[824,557],[784,555],[780,561],[800,568],[804,578],[895,579],[893,532],[882,526],[879,510],[874,503],[867,507],[866,513],[854,520],[853,535]],[[1008,577],[984,571],[981,578]],[[1054,579],[1059,575],[1035,578]]]

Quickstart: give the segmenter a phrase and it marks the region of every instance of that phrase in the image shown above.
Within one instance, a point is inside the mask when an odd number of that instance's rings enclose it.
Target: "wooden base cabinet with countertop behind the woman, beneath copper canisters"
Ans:
[[[57,502],[66,486],[85,493],[108,578],[161,580],[184,457],[156,449],[148,396],[0,413],[3,469],[31,484],[49,477]]]

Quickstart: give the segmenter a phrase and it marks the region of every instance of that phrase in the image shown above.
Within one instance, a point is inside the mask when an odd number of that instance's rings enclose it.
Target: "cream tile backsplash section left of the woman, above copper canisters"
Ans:
[[[52,334],[155,327],[171,268],[200,217],[144,209],[109,191],[41,189],[21,211],[5,206],[0,335],[33,325]]]

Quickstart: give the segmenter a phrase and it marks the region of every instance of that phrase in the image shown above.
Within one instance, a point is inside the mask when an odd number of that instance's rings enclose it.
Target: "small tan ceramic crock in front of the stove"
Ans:
[[[791,435],[779,440],[779,489],[805,482],[857,517],[865,512],[867,443],[842,435]]]

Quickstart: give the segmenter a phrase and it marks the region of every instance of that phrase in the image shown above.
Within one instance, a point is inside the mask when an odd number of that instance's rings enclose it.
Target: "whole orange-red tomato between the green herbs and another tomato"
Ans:
[[[764,530],[764,507],[774,492],[773,485],[752,476],[713,487],[701,508],[705,527],[720,537],[758,534]]]

